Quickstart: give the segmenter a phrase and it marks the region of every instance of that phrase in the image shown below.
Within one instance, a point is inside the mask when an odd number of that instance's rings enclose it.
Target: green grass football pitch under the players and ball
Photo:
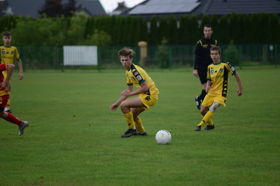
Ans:
[[[120,108],[110,110],[126,89],[125,70],[33,71],[22,81],[15,72],[11,109],[30,126],[18,136],[0,120],[0,185],[280,185],[280,70],[238,72],[242,96],[230,77],[215,129],[195,132],[199,80],[148,71],[159,100],[139,116],[148,136],[130,138],[120,137]],[[171,132],[169,145],[155,141],[161,129]]]

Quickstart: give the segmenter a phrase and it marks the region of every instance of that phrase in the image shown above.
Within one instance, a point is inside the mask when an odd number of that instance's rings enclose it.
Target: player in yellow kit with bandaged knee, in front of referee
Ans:
[[[235,76],[235,79],[238,83],[238,89],[236,91],[237,96],[242,95],[242,85],[239,74],[235,71],[228,62],[220,60],[221,49],[218,46],[213,46],[210,49],[210,55],[213,60],[213,63],[208,66],[207,71],[207,86],[205,96],[200,113],[203,117],[200,124],[197,125],[195,131],[201,131],[201,126],[207,123],[207,126],[204,130],[214,129],[215,126],[211,121],[211,118],[214,115],[214,112],[221,105],[225,107],[225,102],[228,95],[228,81],[229,74]],[[208,107],[210,110],[207,112]]]

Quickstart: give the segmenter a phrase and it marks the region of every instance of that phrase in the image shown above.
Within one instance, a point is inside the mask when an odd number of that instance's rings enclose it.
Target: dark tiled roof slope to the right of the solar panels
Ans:
[[[237,14],[261,14],[263,11],[269,14],[280,13],[279,0],[209,0],[202,13],[207,15],[230,15],[232,11]]]

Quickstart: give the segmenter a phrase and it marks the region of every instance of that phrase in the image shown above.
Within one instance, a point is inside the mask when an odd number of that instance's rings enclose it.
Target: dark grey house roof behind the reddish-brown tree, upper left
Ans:
[[[13,12],[16,16],[32,16],[33,18],[37,18],[40,16],[38,14],[38,10],[45,4],[45,0],[24,0],[24,3],[19,3],[19,0],[6,1],[13,9]],[[67,0],[62,0],[62,4],[65,4],[67,2]],[[77,8],[83,5],[92,15],[106,14],[99,0],[76,0],[76,2]]]

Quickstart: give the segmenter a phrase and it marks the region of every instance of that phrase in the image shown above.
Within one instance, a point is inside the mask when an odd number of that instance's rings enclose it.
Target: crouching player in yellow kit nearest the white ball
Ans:
[[[159,94],[158,89],[155,87],[155,83],[148,74],[142,68],[132,63],[132,57],[134,54],[135,52],[129,48],[123,48],[119,51],[122,65],[127,69],[125,72],[127,89],[122,91],[120,99],[111,105],[111,110],[115,111],[120,105],[127,122],[128,131],[123,133],[121,137],[148,135],[138,115],[155,105]],[[133,85],[136,86],[136,91],[133,91]],[[127,97],[135,95],[139,96],[126,100]]]

